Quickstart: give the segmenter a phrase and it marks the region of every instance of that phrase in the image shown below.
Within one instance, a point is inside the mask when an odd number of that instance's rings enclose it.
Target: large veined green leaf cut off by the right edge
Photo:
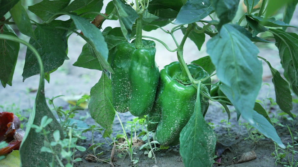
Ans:
[[[277,43],[282,67],[288,77],[293,92],[298,95],[298,35],[282,29],[269,29]]]

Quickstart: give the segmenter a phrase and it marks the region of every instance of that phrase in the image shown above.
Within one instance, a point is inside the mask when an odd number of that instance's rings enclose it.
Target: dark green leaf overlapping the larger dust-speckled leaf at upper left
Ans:
[[[38,24],[38,36],[43,50],[52,57],[69,60],[65,53],[65,39],[63,35],[57,34],[58,28],[50,24]]]

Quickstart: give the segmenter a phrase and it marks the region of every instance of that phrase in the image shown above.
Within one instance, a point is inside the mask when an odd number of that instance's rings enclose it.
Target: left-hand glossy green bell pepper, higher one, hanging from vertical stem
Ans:
[[[152,109],[159,82],[155,62],[155,42],[142,40],[144,47],[136,48],[134,41],[121,42],[115,48],[111,67],[112,103],[119,113],[129,111],[133,116],[147,115]]]

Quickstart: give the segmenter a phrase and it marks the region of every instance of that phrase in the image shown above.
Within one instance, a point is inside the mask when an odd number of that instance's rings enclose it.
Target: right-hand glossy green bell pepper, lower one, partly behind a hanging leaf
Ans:
[[[187,67],[194,79],[209,76],[201,66],[189,64]],[[177,81],[177,76],[181,72],[179,62],[172,62],[160,71],[156,100],[148,115],[149,119],[153,118],[151,122],[159,123],[148,125],[147,128],[148,131],[153,131],[157,125],[155,137],[161,145],[172,146],[179,143],[180,132],[194,111],[197,89],[192,84],[184,85]],[[211,79],[202,83],[211,83]],[[211,86],[206,85],[206,87],[210,91]],[[205,102],[200,96],[200,100],[201,111],[205,113],[209,107],[208,99],[205,99]]]

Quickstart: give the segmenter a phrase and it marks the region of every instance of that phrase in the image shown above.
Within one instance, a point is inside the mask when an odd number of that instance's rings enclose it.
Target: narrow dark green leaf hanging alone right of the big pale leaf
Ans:
[[[293,105],[288,82],[280,76],[280,73],[276,69],[274,69],[266,59],[262,59],[268,64],[273,77],[272,82],[275,89],[276,103],[283,112],[289,114],[294,119],[294,116],[291,113]]]

